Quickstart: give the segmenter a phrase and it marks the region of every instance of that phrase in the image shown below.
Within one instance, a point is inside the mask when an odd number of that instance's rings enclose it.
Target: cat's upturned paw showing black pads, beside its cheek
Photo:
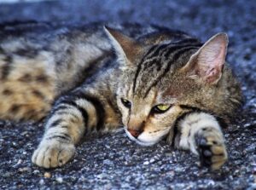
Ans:
[[[228,154],[224,140],[218,130],[203,128],[195,135],[195,143],[201,165],[218,170],[227,160]]]

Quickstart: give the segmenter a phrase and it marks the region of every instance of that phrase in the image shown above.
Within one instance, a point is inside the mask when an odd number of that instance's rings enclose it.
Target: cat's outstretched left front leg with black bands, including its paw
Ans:
[[[55,103],[46,122],[45,133],[32,162],[44,168],[55,168],[73,158],[75,145],[85,128],[96,126],[96,108],[81,95],[62,96]]]

